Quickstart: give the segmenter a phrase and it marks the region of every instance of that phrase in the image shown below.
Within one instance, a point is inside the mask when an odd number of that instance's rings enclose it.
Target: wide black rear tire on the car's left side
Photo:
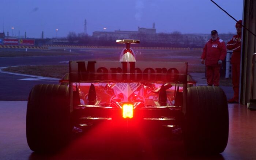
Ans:
[[[26,135],[35,152],[54,152],[65,146],[72,132],[69,89],[65,85],[35,85],[27,103]]]

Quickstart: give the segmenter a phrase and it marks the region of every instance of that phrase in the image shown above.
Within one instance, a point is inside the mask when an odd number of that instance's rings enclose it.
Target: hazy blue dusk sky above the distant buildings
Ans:
[[[215,0],[237,20],[242,19],[243,0]],[[0,32],[10,36],[58,37],[68,32],[138,31],[152,28],[157,33],[235,33],[235,21],[210,0],[1,0]],[[12,31],[12,27],[14,27]]]

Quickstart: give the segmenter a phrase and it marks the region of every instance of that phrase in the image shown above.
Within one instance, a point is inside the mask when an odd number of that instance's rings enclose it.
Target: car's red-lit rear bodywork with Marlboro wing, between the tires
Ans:
[[[185,104],[183,62],[70,61],[69,76],[76,125],[120,119],[124,104],[132,104],[133,119],[177,125]]]

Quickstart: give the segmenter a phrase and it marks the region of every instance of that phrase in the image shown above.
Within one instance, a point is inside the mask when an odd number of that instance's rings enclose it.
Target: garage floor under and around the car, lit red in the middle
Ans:
[[[102,128],[74,134],[67,148],[58,153],[37,154],[29,149],[26,141],[27,101],[0,101],[0,104],[1,160],[253,160],[256,157],[256,125],[253,125],[256,123],[256,112],[249,111],[245,105],[229,104],[229,141],[223,153],[217,156],[188,157],[184,153],[180,136],[156,136],[148,140],[143,133],[136,133],[116,139],[109,137],[108,133],[113,132],[103,132]]]

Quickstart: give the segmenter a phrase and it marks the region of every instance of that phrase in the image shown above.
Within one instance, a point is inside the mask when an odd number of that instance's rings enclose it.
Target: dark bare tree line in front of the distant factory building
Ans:
[[[234,33],[219,34],[224,41],[229,41]],[[120,46],[116,44],[116,39],[139,39],[138,47],[204,47],[204,44],[210,39],[210,34],[182,34],[179,31],[172,33],[131,34],[129,37],[121,36],[89,36],[85,33],[69,32],[67,40],[69,45],[98,45],[98,46]]]

